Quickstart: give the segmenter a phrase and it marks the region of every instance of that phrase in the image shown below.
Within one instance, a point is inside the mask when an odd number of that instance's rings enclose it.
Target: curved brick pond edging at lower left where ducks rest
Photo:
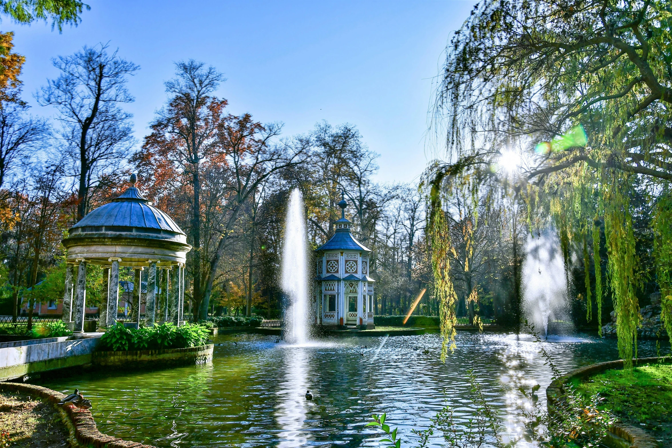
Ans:
[[[33,384],[0,382],[0,391],[21,392],[38,396],[51,404],[70,433],[68,441],[71,448],[155,448],[153,445],[124,441],[101,433],[98,431],[93,416],[91,416],[91,411],[57,404],[65,398],[65,395],[55,390],[34,386]]]

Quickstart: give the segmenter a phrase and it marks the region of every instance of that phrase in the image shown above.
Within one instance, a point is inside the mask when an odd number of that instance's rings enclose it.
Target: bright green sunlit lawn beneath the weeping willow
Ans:
[[[603,408],[623,422],[645,429],[661,446],[672,447],[672,364],[607,370],[575,383],[585,396],[599,394]]]

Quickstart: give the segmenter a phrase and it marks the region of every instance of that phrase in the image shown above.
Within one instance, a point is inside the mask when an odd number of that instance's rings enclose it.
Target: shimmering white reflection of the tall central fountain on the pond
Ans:
[[[294,448],[304,445],[308,436],[304,427],[306,419],[306,390],[308,382],[308,354],[306,349],[286,347],[285,377],[278,388],[276,421],[282,428],[279,434],[280,448]]]

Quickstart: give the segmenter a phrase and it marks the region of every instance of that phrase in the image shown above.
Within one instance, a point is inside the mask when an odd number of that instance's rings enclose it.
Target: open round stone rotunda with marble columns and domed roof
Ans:
[[[72,322],[73,332],[84,332],[87,265],[103,266],[103,303],[100,307],[101,329],[116,324],[119,304],[119,268],[135,270],[132,307],[135,324],[140,324],[142,271],[146,274],[144,324],[183,320],[184,265],[187,235],[167,214],[152,205],[135,187],[131,187],[112,202],[82,218],[63,240],[67,249],[63,317]],[[75,269],[77,270],[75,273]],[[159,274],[161,285],[159,285]],[[157,295],[161,316],[157,316]],[[106,299],[106,300],[105,300]]]

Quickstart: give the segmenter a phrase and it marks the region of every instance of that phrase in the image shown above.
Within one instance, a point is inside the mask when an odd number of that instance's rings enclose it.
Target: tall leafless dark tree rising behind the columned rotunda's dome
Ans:
[[[41,105],[54,105],[60,112],[71,175],[77,179],[77,221],[87,214],[89,189],[116,170],[134,142],[132,115],[119,104],[134,101],[126,81],[139,67],[107,50],[103,44],[85,46],[73,56],[54,58],[61,74],[37,95]]]

